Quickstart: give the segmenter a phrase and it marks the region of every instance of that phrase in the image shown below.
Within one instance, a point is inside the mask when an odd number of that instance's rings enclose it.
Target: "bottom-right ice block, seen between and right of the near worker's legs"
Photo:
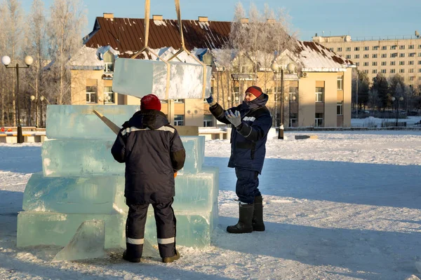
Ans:
[[[178,245],[195,248],[210,246],[210,237],[218,225],[218,215],[211,211],[196,213],[175,211],[175,218],[177,218],[175,242]],[[145,238],[156,244],[156,225],[152,207],[148,209]]]

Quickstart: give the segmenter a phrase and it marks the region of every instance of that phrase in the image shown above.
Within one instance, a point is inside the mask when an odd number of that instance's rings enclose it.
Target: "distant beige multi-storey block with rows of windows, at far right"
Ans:
[[[345,59],[351,59],[357,69],[368,74],[371,81],[399,74],[405,83],[421,90],[421,38],[366,38],[352,41],[351,36],[314,36],[314,42],[324,45]]]

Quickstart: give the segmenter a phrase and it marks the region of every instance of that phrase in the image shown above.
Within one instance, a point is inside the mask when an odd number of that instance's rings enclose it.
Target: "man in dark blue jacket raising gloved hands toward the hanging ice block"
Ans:
[[[265,230],[258,176],[262,173],[267,133],[272,126],[272,116],[265,106],[268,99],[267,94],[255,85],[248,87],[243,103],[228,110],[222,109],[212,94],[206,99],[213,116],[232,125],[228,167],[235,168],[235,190],[240,202],[239,222],[227,227],[230,233]]]

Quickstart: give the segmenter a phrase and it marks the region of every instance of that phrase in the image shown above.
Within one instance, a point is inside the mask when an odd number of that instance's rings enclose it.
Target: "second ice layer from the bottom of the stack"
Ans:
[[[65,214],[127,213],[124,176],[46,177],[32,174],[23,195],[25,211]],[[218,168],[175,179],[175,211],[211,211],[218,200]]]

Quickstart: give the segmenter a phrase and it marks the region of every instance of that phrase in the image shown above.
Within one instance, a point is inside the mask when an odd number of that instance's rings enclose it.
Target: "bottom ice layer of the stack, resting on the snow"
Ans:
[[[218,211],[175,211],[177,244],[204,248],[210,245],[213,229],[218,225]],[[57,245],[66,246],[84,221],[105,221],[105,248],[126,246],[126,214],[59,214],[23,211],[18,214],[18,247]],[[145,239],[156,244],[154,211],[149,207]]]

